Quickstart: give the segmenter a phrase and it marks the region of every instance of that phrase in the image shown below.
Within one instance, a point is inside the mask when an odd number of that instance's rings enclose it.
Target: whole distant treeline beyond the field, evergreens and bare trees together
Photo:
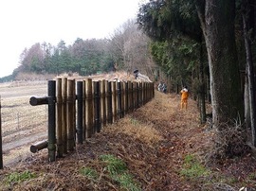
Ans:
[[[67,45],[63,40],[57,46],[35,43],[25,48],[16,73],[62,74],[79,73],[88,76],[123,69],[139,69],[153,76],[154,62],[149,54],[149,38],[137,29],[136,20],[119,26],[110,39],[78,38]]]

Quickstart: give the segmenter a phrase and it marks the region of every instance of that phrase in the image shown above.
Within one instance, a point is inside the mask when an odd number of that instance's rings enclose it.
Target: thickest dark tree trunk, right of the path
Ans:
[[[242,120],[243,94],[234,35],[233,0],[207,0],[203,27],[210,65],[213,127]],[[226,124],[226,125],[225,125]]]

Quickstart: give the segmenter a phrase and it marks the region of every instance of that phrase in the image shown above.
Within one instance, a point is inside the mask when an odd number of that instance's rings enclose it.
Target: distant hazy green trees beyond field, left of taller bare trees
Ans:
[[[73,45],[66,46],[64,41],[57,47],[47,43],[36,43],[21,55],[19,72],[38,74],[62,74],[77,72],[87,76],[98,71],[112,70],[114,61],[107,51],[106,40],[78,39]]]

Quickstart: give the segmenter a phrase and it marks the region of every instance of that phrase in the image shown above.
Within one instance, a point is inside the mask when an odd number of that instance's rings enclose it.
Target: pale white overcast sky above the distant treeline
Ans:
[[[145,0],[0,1],[0,78],[12,74],[23,50],[34,43],[108,38],[136,18],[141,2]]]

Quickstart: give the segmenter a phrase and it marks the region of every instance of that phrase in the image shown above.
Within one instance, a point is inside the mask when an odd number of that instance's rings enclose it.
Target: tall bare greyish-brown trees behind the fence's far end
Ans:
[[[155,62],[149,52],[150,39],[137,28],[136,20],[128,20],[112,37],[113,56],[119,68],[128,73],[138,69],[153,77]]]

